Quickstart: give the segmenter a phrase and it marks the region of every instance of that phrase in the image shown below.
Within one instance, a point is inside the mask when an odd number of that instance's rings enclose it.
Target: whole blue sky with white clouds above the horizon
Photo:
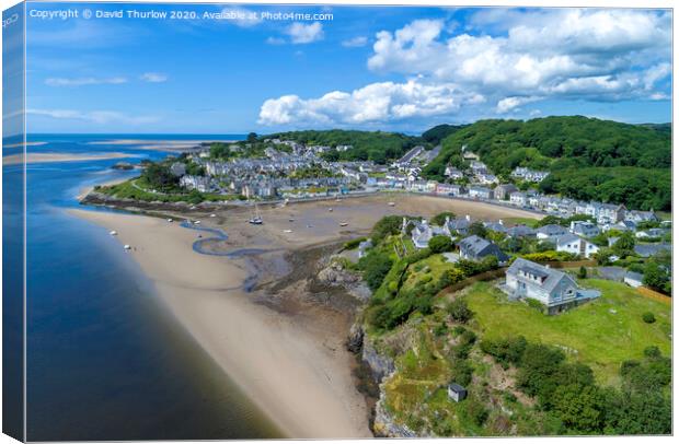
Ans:
[[[34,2],[27,15],[28,132],[671,120],[671,11]]]

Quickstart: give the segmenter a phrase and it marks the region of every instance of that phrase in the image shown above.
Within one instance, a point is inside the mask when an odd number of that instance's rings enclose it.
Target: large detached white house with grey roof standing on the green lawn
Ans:
[[[580,289],[575,279],[563,271],[522,258],[516,259],[505,276],[506,281],[499,288],[509,297],[539,301],[549,314],[600,296],[596,290]]]

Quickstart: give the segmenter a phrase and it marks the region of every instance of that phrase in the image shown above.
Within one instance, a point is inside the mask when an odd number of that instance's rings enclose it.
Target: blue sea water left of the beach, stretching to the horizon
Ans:
[[[35,135],[28,152],[130,159],[26,167],[26,400],[30,441],[277,437],[280,432],[179,326],[115,238],[70,215],[120,161],[168,152],[107,140],[242,136]],[[96,142],[92,144],[91,142]],[[148,142],[147,142],[148,143]],[[7,155],[7,153],[5,153]],[[5,166],[8,168],[20,168]],[[5,190],[7,192],[8,190]],[[9,190],[12,192],[12,190]],[[5,247],[16,249],[21,243]],[[11,253],[10,253],[11,254]]]

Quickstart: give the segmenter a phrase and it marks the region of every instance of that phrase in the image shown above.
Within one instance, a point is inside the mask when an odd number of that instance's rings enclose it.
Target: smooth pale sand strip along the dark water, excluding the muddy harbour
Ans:
[[[162,301],[210,357],[290,437],[368,437],[365,399],[346,353],[250,301],[239,260],[195,253],[197,232],[162,219],[71,210],[118,232]],[[104,234],[105,235],[105,234]]]

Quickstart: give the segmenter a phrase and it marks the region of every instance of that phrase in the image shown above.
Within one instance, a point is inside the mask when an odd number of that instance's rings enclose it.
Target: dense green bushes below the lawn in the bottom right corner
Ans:
[[[538,398],[539,408],[576,434],[667,434],[671,401],[664,390],[671,382],[671,360],[657,347],[643,361],[620,367],[623,389],[596,385],[591,369],[567,363],[561,350],[520,339],[481,341],[481,350],[505,366],[518,367],[517,386]]]

